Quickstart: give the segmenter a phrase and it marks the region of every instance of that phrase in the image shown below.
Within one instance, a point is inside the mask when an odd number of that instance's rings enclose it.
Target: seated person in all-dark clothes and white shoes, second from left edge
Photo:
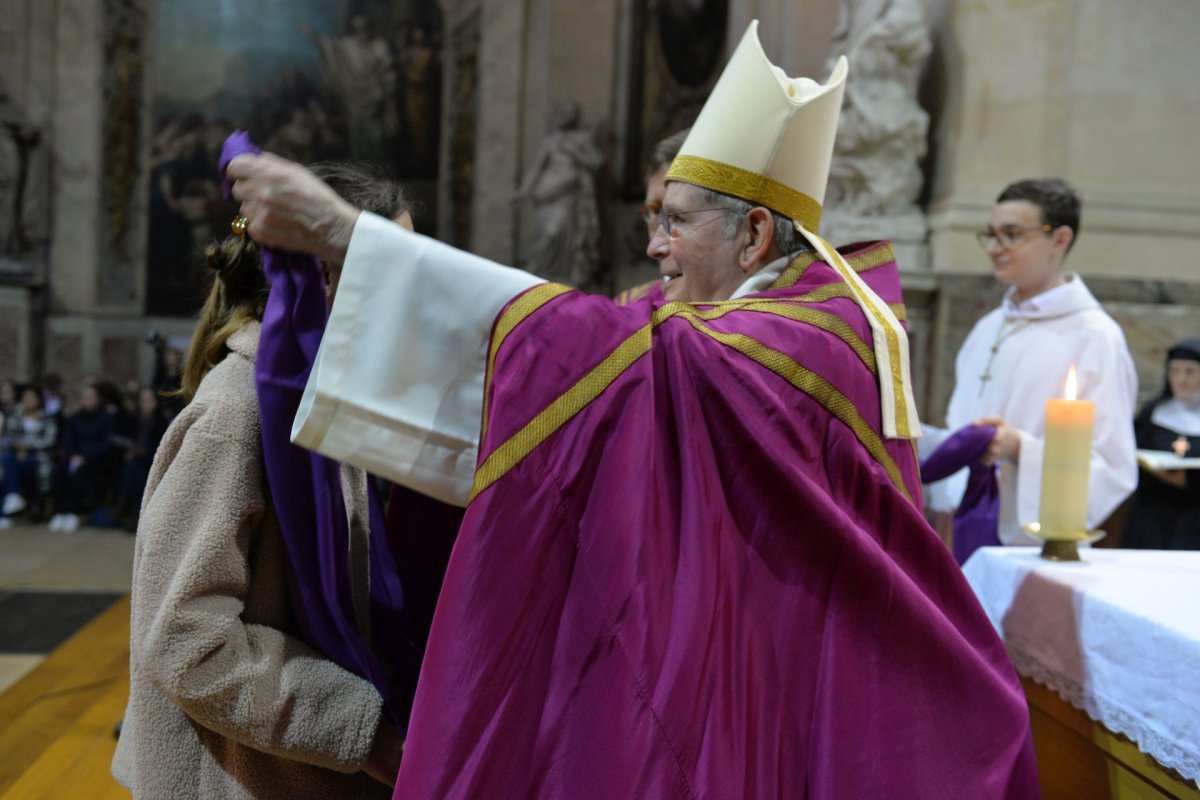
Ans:
[[[113,415],[101,404],[100,391],[94,384],[84,384],[79,410],[67,417],[62,433],[64,462],[54,479],[50,530],[73,533],[79,528],[84,505],[103,500],[110,477],[106,468],[113,429]]]

